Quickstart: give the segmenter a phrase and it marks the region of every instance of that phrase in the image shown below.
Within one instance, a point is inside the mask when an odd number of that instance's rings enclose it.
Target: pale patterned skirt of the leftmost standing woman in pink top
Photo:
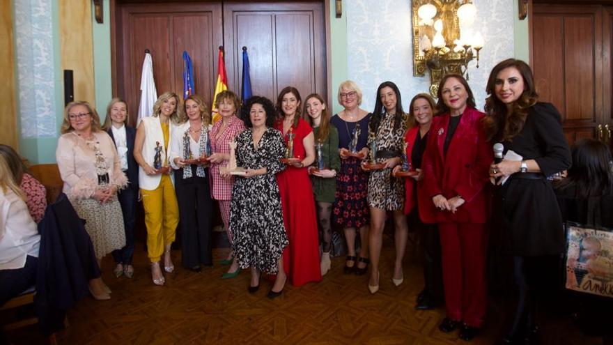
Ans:
[[[117,197],[100,204],[95,199],[72,200],[79,217],[85,220],[87,231],[97,259],[125,246],[123,213]]]

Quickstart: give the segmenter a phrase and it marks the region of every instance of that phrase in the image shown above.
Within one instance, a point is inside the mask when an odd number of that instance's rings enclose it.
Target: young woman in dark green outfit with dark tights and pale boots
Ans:
[[[330,217],[336,192],[336,171],[341,169],[338,153],[339,132],[336,131],[336,127],[330,125],[330,115],[325,102],[317,93],[307,96],[302,113],[308,114],[307,121],[315,134],[316,160],[309,167],[309,174],[313,183],[319,229],[323,234],[320,267],[321,275],[325,275],[330,269],[332,247]]]

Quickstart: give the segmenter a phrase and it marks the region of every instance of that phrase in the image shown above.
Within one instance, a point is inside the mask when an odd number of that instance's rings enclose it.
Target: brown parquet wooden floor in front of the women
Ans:
[[[226,250],[215,250],[217,259]],[[180,263],[180,251],[173,250]],[[177,267],[166,274],[166,286],[150,281],[146,253],[137,245],[133,279],[112,275],[110,256],[104,259],[104,281],[112,299],[86,298],[68,313],[70,327],[59,332],[60,344],[466,344],[457,333],[444,334],[437,325],[444,309],[414,310],[423,283],[419,255],[411,246],[405,257],[405,282],[394,286],[393,241],[385,236],[380,291],[371,295],[368,278],[343,275],[343,258],[332,259],[323,282],[300,288],[287,285],[281,297],[265,297],[272,286],[262,279],[258,293],[247,293],[249,272],[219,279],[227,266],[202,273]],[[471,344],[493,344],[502,316],[490,302],[487,323]],[[8,334],[15,344],[40,342],[36,328]],[[601,344],[582,337],[564,318],[542,325],[543,344]]]

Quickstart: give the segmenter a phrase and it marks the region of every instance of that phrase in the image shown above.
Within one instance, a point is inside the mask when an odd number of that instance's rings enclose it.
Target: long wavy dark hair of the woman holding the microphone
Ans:
[[[524,79],[524,92],[518,100],[513,102],[511,114],[507,114],[506,105],[496,97],[495,93],[499,72],[509,67],[517,68]],[[538,100],[530,66],[517,59],[506,59],[499,62],[490,72],[486,92],[488,93],[485,106],[487,116],[483,118],[483,125],[488,140],[505,141],[513,139],[524,127],[530,107]]]

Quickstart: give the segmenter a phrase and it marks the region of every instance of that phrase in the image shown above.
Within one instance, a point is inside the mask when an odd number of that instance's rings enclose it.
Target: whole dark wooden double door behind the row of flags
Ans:
[[[158,95],[183,93],[183,51],[189,53],[195,93],[210,105],[217,54],[224,46],[228,89],[240,96],[242,47],[249,54],[251,88],[273,102],[285,86],[302,96],[327,97],[324,2],[143,3],[116,0],[114,94],[138,113],[145,49],[153,58]],[[112,10],[112,9],[111,9]],[[132,116],[132,123],[135,122]]]

